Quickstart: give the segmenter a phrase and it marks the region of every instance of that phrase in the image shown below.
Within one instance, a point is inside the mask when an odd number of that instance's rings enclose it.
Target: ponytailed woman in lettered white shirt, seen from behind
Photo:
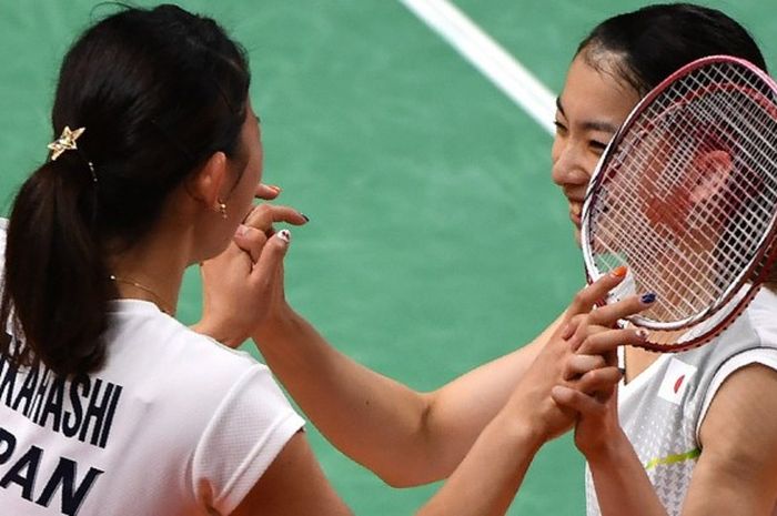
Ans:
[[[49,156],[0,226],[0,514],[351,514],[269,370],[202,335],[240,313],[209,296],[201,333],[174,318],[184,270],[215,256],[223,284],[253,295],[251,317],[272,317],[290,232],[258,239],[241,222],[305,222],[251,211],[278,191],[260,184],[249,82],[241,48],[174,6],[119,8],[65,55]],[[623,277],[605,275],[569,308],[592,352],[638,338],[610,330],[644,308],[636,297],[587,317]],[[552,387],[612,389],[618,370],[585,358],[564,382],[567,337],[554,333],[537,358],[547,367],[418,515],[503,515],[536,449],[572,422]]]

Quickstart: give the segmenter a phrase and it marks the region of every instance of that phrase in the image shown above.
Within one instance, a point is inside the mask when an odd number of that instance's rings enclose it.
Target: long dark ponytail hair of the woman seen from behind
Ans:
[[[102,364],[115,295],[105,256],[137,243],[214,152],[240,153],[249,81],[244,51],[213,20],[174,6],[123,9],[75,41],[52,139],[65,125],[85,131],[16,198],[0,322],[23,344],[2,341],[0,353],[60,375]]]

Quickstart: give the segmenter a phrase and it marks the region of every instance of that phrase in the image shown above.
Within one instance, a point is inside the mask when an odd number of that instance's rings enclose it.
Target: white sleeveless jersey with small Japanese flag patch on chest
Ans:
[[[632,382],[619,385],[620,426],[669,515],[680,514],[702,453],[702,422],[717,389],[750,364],[777,370],[777,294],[767,289],[714,342],[664,354]],[[599,515],[587,467],[585,483],[587,514]]]

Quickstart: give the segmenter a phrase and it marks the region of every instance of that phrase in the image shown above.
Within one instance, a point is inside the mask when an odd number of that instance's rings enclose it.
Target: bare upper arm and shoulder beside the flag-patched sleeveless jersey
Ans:
[[[715,395],[683,514],[771,515],[777,499],[777,371],[754,364]]]

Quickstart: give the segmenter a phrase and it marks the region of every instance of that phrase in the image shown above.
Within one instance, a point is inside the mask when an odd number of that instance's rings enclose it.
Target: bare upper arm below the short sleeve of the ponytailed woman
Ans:
[[[275,457],[231,516],[350,516],[303,432]]]

